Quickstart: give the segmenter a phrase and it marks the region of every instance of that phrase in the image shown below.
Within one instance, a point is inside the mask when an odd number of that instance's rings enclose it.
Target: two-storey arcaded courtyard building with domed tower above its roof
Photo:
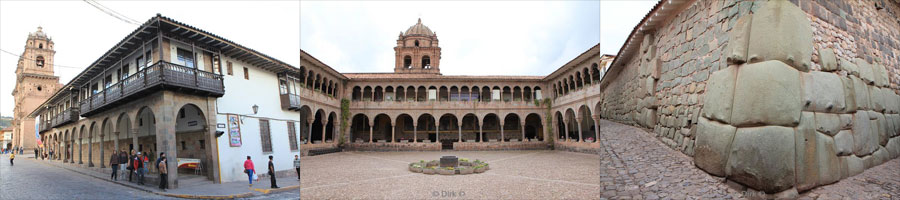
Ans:
[[[300,74],[282,87],[297,99],[302,153],[599,151],[597,83],[613,59],[599,44],[546,76],[470,76],[441,74],[438,41],[419,19],[398,36],[393,73],[340,73],[301,50]]]

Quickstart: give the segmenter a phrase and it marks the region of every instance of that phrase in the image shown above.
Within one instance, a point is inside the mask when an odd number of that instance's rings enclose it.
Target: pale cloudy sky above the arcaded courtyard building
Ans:
[[[300,2],[300,48],[339,72],[392,72],[421,17],[445,75],[547,75],[600,42],[599,1]]]

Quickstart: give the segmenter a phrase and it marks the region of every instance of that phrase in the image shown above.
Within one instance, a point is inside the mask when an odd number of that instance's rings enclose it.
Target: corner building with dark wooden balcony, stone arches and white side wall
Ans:
[[[290,102],[282,104],[279,81],[297,74],[276,58],[157,15],[61,89],[48,90],[29,116],[40,119],[44,150],[65,163],[108,170],[116,151],[151,160],[165,152],[172,188],[186,178],[246,180],[246,156],[266,166],[272,155],[284,175],[299,154],[301,123]]]

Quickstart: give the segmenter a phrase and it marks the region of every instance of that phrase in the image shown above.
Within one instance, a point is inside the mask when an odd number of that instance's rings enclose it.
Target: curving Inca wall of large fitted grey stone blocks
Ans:
[[[694,1],[617,61],[601,116],[751,190],[861,173],[900,156],[900,6],[879,3]]]

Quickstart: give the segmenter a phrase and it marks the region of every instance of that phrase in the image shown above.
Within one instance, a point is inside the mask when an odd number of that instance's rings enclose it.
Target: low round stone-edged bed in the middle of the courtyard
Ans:
[[[460,158],[458,165],[455,167],[441,167],[438,160],[409,163],[409,171],[423,174],[440,174],[440,175],[466,175],[472,173],[483,173],[490,169],[490,165],[481,160],[469,160]]]

